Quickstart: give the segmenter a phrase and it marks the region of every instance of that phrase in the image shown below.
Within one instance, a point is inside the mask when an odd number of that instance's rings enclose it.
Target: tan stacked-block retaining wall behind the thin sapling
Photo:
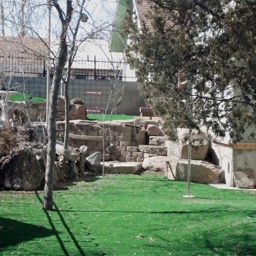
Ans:
[[[104,144],[114,144],[121,152],[118,160],[122,162],[142,162],[144,154],[149,155],[148,149],[139,146],[136,135],[142,129],[139,125],[134,125],[134,121],[125,124],[118,122],[106,122],[104,124],[105,132],[103,132],[103,124],[101,122],[89,121],[70,121],[69,126],[69,145],[72,147],[81,147],[86,145],[89,154],[101,152],[103,149],[103,134],[105,136]],[[57,122],[57,139],[64,140],[64,122]],[[153,146],[156,152],[159,148],[162,154],[167,155],[167,147]],[[145,152],[144,152],[145,151]],[[148,156],[147,156],[148,157]]]

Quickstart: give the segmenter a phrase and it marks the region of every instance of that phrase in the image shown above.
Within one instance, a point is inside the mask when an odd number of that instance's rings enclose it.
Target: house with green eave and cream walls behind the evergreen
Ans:
[[[116,8],[114,19],[114,28],[111,35],[110,49],[113,52],[122,52],[124,54],[127,44],[126,38],[122,36],[121,27],[127,16],[127,4],[134,9],[134,15],[138,17],[140,26],[144,21],[146,26],[151,28],[150,21],[145,18],[145,13],[150,9],[149,2],[146,0],[130,0],[126,2],[119,0]],[[182,72],[178,75],[181,77],[178,87],[182,87]],[[235,93],[235,92],[234,92]],[[250,138],[250,134],[255,134]],[[215,163],[225,170],[225,181],[227,185],[235,186],[234,173],[242,172],[245,178],[248,176],[247,171],[255,177],[256,185],[256,132],[255,128],[247,129],[239,143],[233,144],[229,135],[221,138],[213,138],[211,141],[211,154]],[[246,178],[247,179],[247,178]],[[248,179],[247,179],[248,180]]]

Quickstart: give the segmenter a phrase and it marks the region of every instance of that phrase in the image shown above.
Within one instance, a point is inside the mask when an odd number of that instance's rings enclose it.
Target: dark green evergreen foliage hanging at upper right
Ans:
[[[172,137],[177,127],[206,126],[241,140],[256,122],[256,2],[149,2],[152,27],[138,29],[129,11],[124,33],[127,61],[155,114]]]

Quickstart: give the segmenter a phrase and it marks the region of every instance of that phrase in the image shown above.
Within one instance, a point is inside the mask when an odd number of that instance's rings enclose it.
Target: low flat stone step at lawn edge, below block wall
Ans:
[[[88,165],[87,169],[95,172],[102,172],[101,165]],[[105,172],[110,174],[135,174],[142,168],[140,162],[105,162]]]

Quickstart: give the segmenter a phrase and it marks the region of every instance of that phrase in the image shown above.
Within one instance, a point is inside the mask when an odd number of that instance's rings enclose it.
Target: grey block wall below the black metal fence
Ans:
[[[45,77],[12,77],[11,87],[17,91],[25,88],[27,94],[46,98]],[[64,84],[59,95],[64,95]],[[105,112],[109,103],[107,114],[116,109],[114,114],[139,116],[139,108],[145,106],[145,99],[140,94],[137,82],[72,79],[69,98],[82,99],[89,113]]]

